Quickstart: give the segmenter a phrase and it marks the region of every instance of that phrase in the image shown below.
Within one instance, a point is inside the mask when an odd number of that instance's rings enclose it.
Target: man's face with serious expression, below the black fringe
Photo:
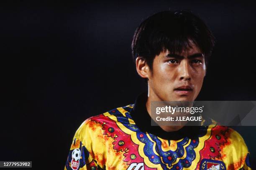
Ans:
[[[205,72],[204,56],[195,44],[181,54],[161,52],[153,61],[153,74],[148,75],[149,95],[156,100],[194,101]]]

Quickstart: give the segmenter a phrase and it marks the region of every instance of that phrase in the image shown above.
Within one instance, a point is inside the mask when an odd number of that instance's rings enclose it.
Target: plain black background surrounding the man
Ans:
[[[1,18],[0,160],[63,169],[88,117],[132,104],[146,90],[131,57],[139,23],[190,9],[216,37],[197,100],[256,100],[256,7],[252,2],[8,1]],[[234,127],[256,162],[256,127]]]

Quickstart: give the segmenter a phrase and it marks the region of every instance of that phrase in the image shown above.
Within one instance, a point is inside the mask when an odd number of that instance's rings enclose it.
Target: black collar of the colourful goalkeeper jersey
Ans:
[[[166,132],[159,126],[151,126],[151,117],[146,109],[147,100],[147,92],[142,93],[137,97],[133,110],[131,110],[131,117],[142,132],[151,133],[166,140],[180,140],[185,137],[193,139],[197,137],[200,126],[184,126],[173,132]]]

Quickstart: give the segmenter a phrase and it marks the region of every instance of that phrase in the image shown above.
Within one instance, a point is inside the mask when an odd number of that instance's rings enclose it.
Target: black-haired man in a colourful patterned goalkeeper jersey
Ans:
[[[190,12],[157,13],[141,23],[132,42],[148,92],[134,105],[85,120],[65,170],[251,169],[243,138],[216,125],[151,126],[152,101],[194,101],[206,74],[214,38]]]

